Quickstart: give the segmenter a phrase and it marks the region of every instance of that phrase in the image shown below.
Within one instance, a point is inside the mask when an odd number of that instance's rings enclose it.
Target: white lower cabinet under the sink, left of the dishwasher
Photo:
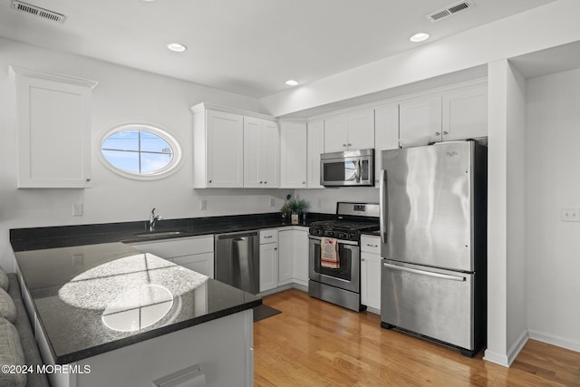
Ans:
[[[131,243],[143,253],[165,258],[210,278],[214,277],[214,237],[179,237]]]

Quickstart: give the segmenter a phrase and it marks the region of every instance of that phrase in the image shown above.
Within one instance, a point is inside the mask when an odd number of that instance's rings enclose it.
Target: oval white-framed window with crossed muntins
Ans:
[[[178,165],[178,142],[158,127],[130,124],[115,127],[101,142],[102,158],[123,176],[151,179],[164,176]]]

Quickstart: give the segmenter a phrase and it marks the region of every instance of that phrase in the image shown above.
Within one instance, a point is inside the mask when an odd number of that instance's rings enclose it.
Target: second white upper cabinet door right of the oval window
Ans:
[[[262,159],[264,158],[262,120],[244,117],[244,187],[261,188]]]

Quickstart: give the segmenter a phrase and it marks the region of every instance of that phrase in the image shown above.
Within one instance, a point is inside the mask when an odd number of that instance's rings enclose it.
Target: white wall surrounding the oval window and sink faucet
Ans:
[[[99,82],[92,105],[92,189],[16,189],[16,120],[14,84],[8,66],[63,73]],[[191,122],[189,107],[211,102],[260,111],[252,98],[194,83],[132,70],[66,53],[0,39],[0,265],[9,262],[8,230],[148,219],[152,207],[164,218],[273,212],[282,206],[285,190],[192,189]],[[98,139],[121,122],[160,124],[177,138],[185,152],[174,175],[156,181],[123,179],[97,159]],[[275,198],[275,208],[268,207]],[[200,211],[199,199],[208,200]],[[84,204],[84,216],[73,218],[73,203]]]

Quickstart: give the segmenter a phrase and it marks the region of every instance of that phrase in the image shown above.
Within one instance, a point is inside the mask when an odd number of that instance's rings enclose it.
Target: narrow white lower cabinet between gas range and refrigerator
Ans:
[[[361,237],[361,304],[381,310],[380,237]]]

